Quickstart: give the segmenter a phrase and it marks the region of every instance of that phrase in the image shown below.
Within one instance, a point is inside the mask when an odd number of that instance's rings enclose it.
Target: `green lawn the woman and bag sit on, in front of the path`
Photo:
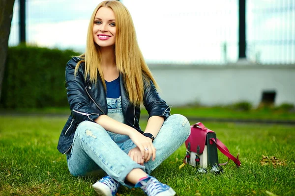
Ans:
[[[0,117],[1,196],[95,195],[91,185],[97,179],[71,176],[65,155],[56,148],[65,121],[63,117]],[[196,175],[196,169],[189,165],[178,169],[185,154],[181,146],[152,172],[178,196],[295,195],[295,126],[203,123],[234,155],[240,154],[242,167],[237,169],[231,161],[221,175]],[[286,165],[261,166],[262,155],[286,160]],[[225,162],[226,157],[219,154],[219,160]],[[144,195],[139,189],[124,187],[118,193]]]

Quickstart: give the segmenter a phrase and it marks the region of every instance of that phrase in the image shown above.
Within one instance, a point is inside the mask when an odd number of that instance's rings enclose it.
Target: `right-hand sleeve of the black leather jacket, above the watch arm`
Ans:
[[[164,121],[166,121],[170,116],[170,107],[160,98],[152,80],[145,80],[144,89],[144,106],[148,111],[148,118],[152,116],[161,116],[164,117]]]

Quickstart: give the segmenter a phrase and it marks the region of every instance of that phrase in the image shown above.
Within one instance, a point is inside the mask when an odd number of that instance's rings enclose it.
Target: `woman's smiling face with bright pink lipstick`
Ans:
[[[115,14],[111,8],[101,7],[97,10],[93,25],[93,40],[100,47],[115,45]]]

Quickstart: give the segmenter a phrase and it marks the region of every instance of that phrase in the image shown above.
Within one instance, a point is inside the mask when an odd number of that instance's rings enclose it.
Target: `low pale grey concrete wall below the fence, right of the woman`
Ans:
[[[257,106],[263,91],[275,91],[275,105],[295,104],[295,65],[148,65],[160,96],[169,105],[224,105],[248,101]]]

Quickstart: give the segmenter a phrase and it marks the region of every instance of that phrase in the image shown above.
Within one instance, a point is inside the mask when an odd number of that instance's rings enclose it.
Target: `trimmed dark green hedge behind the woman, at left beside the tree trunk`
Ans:
[[[17,46],[8,49],[0,105],[3,108],[68,106],[64,73],[72,50]]]

